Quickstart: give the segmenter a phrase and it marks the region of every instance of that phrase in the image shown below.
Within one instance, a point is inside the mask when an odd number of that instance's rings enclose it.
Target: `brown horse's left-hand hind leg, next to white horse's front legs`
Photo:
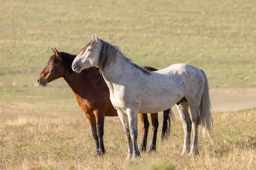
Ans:
[[[148,138],[148,115],[147,113],[139,113],[138,114],[141,122],[141,129],[142,129],[142,139],[140,144],[140,150],[145,151],[147,146],[147,138]]]

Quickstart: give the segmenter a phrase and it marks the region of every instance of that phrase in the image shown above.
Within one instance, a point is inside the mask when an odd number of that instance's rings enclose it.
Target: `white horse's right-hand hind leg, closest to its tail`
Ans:
[[[192,154],[198,154],[198,124],[199,124],[199,106],[189,106],[192,119],[192,130],[193,130],[193,143],[188,156]]]

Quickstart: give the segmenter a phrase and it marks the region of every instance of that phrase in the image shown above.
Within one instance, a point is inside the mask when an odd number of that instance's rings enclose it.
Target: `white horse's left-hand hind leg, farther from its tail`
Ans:
[[[179,105],[177,105],[179,114],[180,114],[180,119],[183,124],[183,130],[184,130],[184,144],[183,144],[183,150],[181,155],[184,153],[189,153],[189,148],[190,148],[190,134],[191,134],[191,120],[189,117],[189,105],[188,102],[180,102]]]

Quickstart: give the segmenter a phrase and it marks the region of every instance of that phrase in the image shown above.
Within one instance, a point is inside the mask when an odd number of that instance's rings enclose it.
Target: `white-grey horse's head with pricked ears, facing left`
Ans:
[[[72,63],[72,69],[75,72],[81,72],[82,69],[97,66],[101,52],[102,42],[97,37],[92,35],[92,40],[79,52]]]

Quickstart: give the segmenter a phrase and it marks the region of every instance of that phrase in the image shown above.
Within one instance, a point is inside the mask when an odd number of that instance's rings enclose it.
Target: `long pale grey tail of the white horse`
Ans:
[[[209,97],[209,86],[208,80],[203,70],[201,72],[204,75],[204,91],[201,98],[201,104],[199,107],[199,126],[202,127],[203,135],[207,131],[207,135],[211,139],[211,132],[212,132],[212,114],[211,114],[211,103]]]

